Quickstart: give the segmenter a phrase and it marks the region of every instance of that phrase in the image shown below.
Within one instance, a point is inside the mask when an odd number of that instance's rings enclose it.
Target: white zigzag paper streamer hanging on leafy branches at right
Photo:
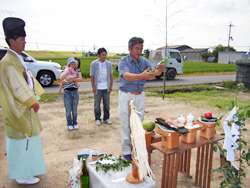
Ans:
[[[234,107],[229,115],[226,117],[225,121],[223,122],[223,128],[225,132],[225,140],[223,144],[223,149],[227,150],[227,161],[230,161],[231,164],[239,170],[239,168],[233,163],[235,159],[234,150],[238,148],[238,144],[236,141],[239,139],[239,126],[235,123],[232,124],[232,127],[228,126],[228,121],[230,121],[234,115],[236,114],[237,109]]]

